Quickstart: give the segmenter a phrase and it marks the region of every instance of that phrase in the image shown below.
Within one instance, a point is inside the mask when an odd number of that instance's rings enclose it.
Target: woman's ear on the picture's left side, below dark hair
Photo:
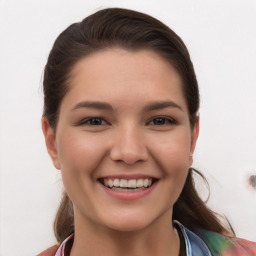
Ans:
[[[45,116],[42,117],[42,130],[44,133],[47,151],[52,159],[55,168],[60,170],[60,163],[56,147],[56,133],[54,129],[50,126],[48,119]]]

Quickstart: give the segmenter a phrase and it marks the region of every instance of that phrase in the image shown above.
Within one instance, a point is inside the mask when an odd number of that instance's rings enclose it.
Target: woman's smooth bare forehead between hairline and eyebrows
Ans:
[[[180,75],[167,60],[150,50],[114,48],[86,56],[73,67],[69,86],[66,96],[77,101],[125,99],[134,104],[132,99],[140,98],[185,104]]]

